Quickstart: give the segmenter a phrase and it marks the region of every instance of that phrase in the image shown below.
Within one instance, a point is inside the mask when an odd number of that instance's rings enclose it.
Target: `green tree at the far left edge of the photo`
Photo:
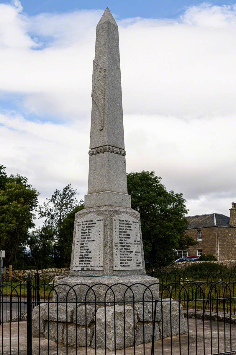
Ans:
[[[22,257],[28,233],[34,227],[39,193],[19,174],[5,173],[0,166],[0,248],[5,249],[6,264],[16,267]]]

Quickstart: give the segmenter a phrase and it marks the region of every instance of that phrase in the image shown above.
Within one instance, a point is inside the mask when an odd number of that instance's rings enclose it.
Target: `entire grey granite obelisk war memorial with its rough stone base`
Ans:
[[[88,193],[75,214],[70,275],[56,277],[59,306],[41,305],[40,321],[34,308],[33,336],[114,350],[185,333],[186,322],[178,302],[158,302],[153,318],[159,283],[146,275],[127,193],[119,34],[108,8],[97,24],[91,96]]]

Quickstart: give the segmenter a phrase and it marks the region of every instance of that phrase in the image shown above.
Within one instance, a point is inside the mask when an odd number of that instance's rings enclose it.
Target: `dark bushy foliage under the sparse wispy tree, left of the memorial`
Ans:
[[[53,264],[53,241],[53,231],[47,226],[36,228],[29,234],[27,244],[37,270]]]

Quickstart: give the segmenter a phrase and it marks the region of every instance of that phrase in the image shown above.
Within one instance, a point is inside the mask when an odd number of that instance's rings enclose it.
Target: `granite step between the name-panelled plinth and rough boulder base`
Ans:
[[[96,302],[155,300],[159,299],[159,280],[147,275],[56,277],[53,301],[94,302],[95,295]]]

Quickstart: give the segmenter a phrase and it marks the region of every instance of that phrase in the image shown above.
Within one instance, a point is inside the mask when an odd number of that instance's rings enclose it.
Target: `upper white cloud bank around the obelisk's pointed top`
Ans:
[[[26,17],[18,7],[2,4],[0,90],[21,94],[25,109],[38,115],[74,119],[88,114],[101,14]],[[235,112],[236,6],[193,6],[175,20],[117,22],[125,112]]]

